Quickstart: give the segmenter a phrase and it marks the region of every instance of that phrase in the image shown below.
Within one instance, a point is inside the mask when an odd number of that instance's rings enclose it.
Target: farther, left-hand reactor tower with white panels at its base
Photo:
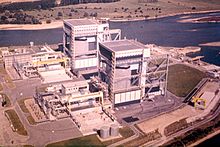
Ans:
[[[100,42],[121,39],[121,30],[110,30],[105,20],[64,20],[63,29],[63,51],[71,57],[71,69],[76,74],[97,67]]]

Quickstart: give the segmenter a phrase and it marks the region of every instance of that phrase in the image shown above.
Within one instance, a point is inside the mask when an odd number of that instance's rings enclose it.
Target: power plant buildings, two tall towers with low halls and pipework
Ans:
[[[105,19],[71,19],[64,20],[61,50],[32,43],[2,53],[5,68],[12,66],[19,78],[41,79],[34,97],[49,120],[70,117],[89,132],[81,114],[104,113],[101,119],[114,126],[115,108],[166,96],[169,55],[152,49],[121,39],[121,30]]]

